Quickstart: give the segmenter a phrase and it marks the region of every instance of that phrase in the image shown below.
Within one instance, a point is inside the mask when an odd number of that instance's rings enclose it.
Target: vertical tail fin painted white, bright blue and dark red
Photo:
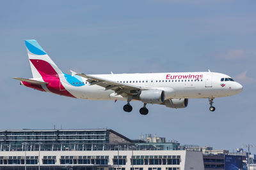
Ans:
[[[63,74],[35,39],[25,40],[33,78]]]

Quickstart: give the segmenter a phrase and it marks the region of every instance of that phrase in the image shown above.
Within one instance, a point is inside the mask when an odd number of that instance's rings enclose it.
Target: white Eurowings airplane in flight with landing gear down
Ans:
[[[205,98],[214,111],[213,99],[232,96],[243,90],[240,83],[221,73],[130,73],[84,74],[63,73],[35,39],[25,40],[33,78],[17,78],[20,85],[61,96],[90,100],[127,101],[124,111],[131,112],[131,101],[141,101],[141,115],[147,104],[168,108],[186,108],[188,99]]]

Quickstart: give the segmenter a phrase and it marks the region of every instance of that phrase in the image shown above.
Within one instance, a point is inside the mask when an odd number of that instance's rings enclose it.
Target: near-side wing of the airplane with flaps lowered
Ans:
[[[90,85],[99,85],[101,87],[104,87],[105,90],[114,90],[115,95],[121,95],[123,97],[127,95],[135,95],[140,92],[140,90],[146,90],[147,88],[145,87],[140,87],[136,85],[129,85],[126,83],[119,83],[116,81],[112,80],[107,80],[104,78],[99,78],[97,76],[92,76],[92,75],[87,75],[83,73],[76,73],[78,76],[82,76],[84,78],[87,78],[86,81],[90,83]]]

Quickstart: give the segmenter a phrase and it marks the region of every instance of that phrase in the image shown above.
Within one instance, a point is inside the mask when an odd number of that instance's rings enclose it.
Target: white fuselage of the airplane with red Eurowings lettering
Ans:
[[[134,74],[95,74],[99,78],[136,85],[148,89],[160,89],[165,92],[165,99],[180,98],[215,98],[238,94],[243,90],[242,85],[236,81],[221,81],[221,78],[230,78],[226,74],[212,72],[191,72],[191,73],[134,73]],[[83,78],[83,86],[76,87],[67,82],[61,81],[65,89],[79,99],[91,100],[127,100],[126,97],[115,94],[113,90],[105,90],[99,85],[90,85]],[[221,84],[225,84],[222,85]]]

